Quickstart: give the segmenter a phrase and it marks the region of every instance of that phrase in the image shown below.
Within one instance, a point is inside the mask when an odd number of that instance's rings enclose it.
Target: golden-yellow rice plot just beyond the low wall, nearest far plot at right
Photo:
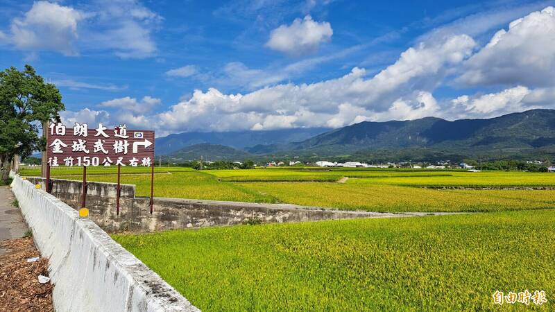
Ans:
[[[333,182],[239,184],[297,205],[368,211],[506,211],[555,207],[555,191],[417,189],[350,179]]]

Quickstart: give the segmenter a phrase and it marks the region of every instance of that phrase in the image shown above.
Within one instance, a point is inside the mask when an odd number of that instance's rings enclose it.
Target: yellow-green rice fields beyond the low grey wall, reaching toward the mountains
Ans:
[[[88,180],[116,182],[115,168],[89,168]],[[427,187],[555,187],[553,173],[486,171],[410,171],[298,168],[195,171],[155,168],[155,196],[285,202],[367,211],[506,211],[555,207],[555,190],[431,189]],[[137,195],[150,192],[149,168],[124,168],[121,183],[135,184]],[[54,177],[80,180],[80,168],[56,168]],[[23,175],[37,174],[23,171]],[[337,183],[341,177],[350,177]],[[284,182],[289,179],[289,182]],[[232,182],[235,181],[235,182]],[[257,181],[257,182],[253,182]],[[314,182],[316,181],[316,182]],[[331,181],[331,182],[330,182]]]

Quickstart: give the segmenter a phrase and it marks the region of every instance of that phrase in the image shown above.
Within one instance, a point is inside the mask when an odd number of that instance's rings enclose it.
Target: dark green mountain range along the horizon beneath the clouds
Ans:
[[[284,130],[275,130],[276,132]],[[298,131],[298,132],[297,132]],[[289,129],[287,136],[279,139],[241,141],[230,139],[221,132],[211,135],[218,139],[207,140],[207,146],[196,147],[196,153],[203,154],[203,148],[216,150],[221,159],[228,159],[220,148],[210,144],[232,146],[241,153],[230,153],[235,157],[266,159],[271,157],[304,159],[360,159],[365,161],[400,161],[400,160],[459,160],[467,157],[484,159],[504,159],[528,157],[552,157],[555,155],[555,110],[529,110],[527,112],[506,114],[491,119],[461,119],[447,121],[436,117],[426,117],[411,121],[364,121],[343,128],[325,131],[324,128],[312,128],[313,135],[295,140],[311,133],[310,129]],[[265,134],[241,132],[244,137],[262,138]],[[320,132],[320,133],[317,133]],[[206,134],[207,135],[207,134]],[[174,135],[175,136],[175,135]],[[178,136],[185,136],[181,134]],[[169,136],[171,137],[171,136]],[[157,139],[159,147],[164,149],[164,139]],[[160,144],[162,141],[162,144]],[[166,141],[170,141],[166,139]],[[192,141],[191,141],[192,142]],[[251,144],[250,146],[248,144]],[[200,150],[199,150],[200,148]],[[184,151],[174,150],[175,157]]]

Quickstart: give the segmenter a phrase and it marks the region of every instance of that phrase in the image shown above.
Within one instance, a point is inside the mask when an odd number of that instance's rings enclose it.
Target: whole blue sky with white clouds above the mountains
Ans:
[[[159,134],[490,117],[555,105],[554,5],[3,0],[0,67]]]

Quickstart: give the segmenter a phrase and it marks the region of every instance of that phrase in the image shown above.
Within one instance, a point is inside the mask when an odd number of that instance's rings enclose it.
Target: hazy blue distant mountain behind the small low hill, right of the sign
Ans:
[[[247,146],[287,144],[320,135],[330,128],[296,128],[266,131],[185,132],[156,139],[156,155],[167,155],[195,144],[221,144],[243,149]]]

